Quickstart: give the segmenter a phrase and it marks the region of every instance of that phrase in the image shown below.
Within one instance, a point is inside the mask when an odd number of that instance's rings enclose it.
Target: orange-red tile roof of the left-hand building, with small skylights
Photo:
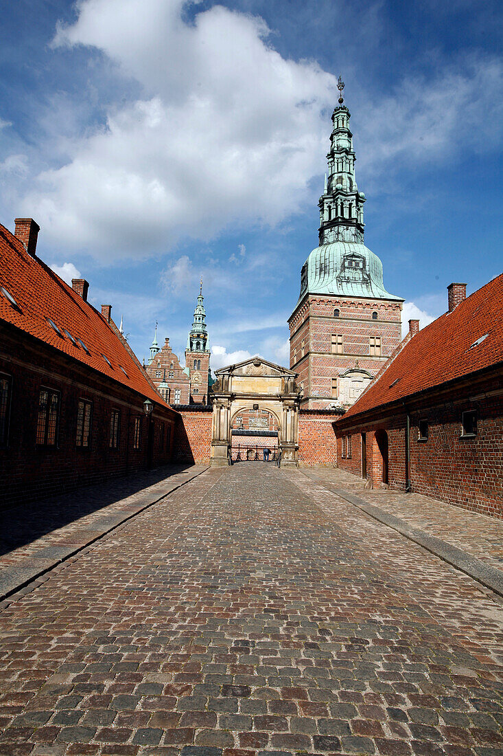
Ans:
[[[17,307],[12,305],[0,290],[0,318],[3,321],[54,346],[70,358],[93,367],[156,404],[168,407],[153,388],[131,349],[122,341],[115,325],[108,324],[89,302],[85,302],[42,260],[29,255],[23,243],[2,225],[0,287],[4,287],[17,302]],[[58,336],[48,319],[54,322],[62,336]],[[76,341],[82,339],[90,353],[85,352],[78,341],[77,345],[73,344],[64,330],[69,331]]]

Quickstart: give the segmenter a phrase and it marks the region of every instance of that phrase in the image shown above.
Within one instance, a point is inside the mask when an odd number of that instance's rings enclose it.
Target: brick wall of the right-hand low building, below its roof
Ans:
[[[494,384],[487,386],[490,391]],[[503,400],[501,395],[471,400],[474,390],[458,391],[456,401],[415,408],[410,415],[410,484],[412,492],[464,509],[503,519]],[[482,395],[480,387],[477,393]],[[461,438],[463,411],[477,411],[477,435]],[[419,420],[427,420],[428,438],[418,441]],[[361,476],[361,432],[366,432],[367,477],[382,481],[382,457],[376,433],[387,432],[390,488],[406,487],[406,416],[386,423],[361,423],[338,429],[338,466]],[[351,435],[351,458],[342,457],[343,436]]]

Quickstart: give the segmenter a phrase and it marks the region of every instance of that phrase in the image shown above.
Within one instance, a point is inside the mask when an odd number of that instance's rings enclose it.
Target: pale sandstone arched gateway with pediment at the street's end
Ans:
[[[211,465],[230,463],[232,429],[236,418],[252,411],[273,418],[282,466],[298,466],[298,412],[301,389],[297,373],[255,357],[215,371]],[[236,438],[234,439],[236,442]],[[242,438],[245,442],[245,438]],[[252,439],[255,444],[255,439]],[[276,445],[276,438],[274,439]],[[262,445],[262,444],[261,444]]]

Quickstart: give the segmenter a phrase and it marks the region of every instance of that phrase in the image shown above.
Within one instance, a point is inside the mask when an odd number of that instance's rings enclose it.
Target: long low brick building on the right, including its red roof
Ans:
[[[335,423],[338,466],[374,485],[503,518],[503,274],[418,321]]]

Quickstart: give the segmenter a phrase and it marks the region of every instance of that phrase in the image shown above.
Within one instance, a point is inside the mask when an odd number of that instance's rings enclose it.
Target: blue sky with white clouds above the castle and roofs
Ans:
[[[140,357],[288,363],[341,73],[366,245],[421,325],[501,273],[499,0],[0,2],[0,222],[89,280]]]

